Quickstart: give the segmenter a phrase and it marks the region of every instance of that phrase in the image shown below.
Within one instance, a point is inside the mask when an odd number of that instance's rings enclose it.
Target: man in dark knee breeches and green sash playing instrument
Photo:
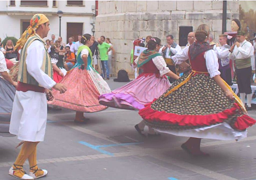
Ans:
[[[236,63],[237,84],[240,99],[245,104],[247,94],[247,110],[251,110],[252,89],[251,89],[251,56],[253,55],[252,44],[245,39],[243,31],[237,32],[237,41],[232,46],[229,58]]]

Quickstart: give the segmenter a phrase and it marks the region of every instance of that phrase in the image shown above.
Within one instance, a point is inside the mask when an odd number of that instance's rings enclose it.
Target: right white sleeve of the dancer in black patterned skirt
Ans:
[[[205,52],[205,60],[210,77],[213,78],[216,75],[220,75],[218,58],[214,50],[208,50]]]

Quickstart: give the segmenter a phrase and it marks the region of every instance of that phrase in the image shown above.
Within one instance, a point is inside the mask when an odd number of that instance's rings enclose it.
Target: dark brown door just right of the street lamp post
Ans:
[[[83,33],[83,23],[67,22],[67,43],[68,38],[73,37],[74,41],[78,41],[78,35]]]

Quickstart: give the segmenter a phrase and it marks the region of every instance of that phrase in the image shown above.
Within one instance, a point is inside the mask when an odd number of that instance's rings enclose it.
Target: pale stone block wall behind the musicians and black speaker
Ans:
[[[227,1],[227,30],[231,20],[239,18],[238,1]],[[132,77],[130,53],[133,40],[152,35],[166,43],[172,34],[178,43],[179,26],[209,25],[216,41],[222,31],[222,1],[99,1],[95,35],[110,38],[115,58],[112,71],[125,69]]]

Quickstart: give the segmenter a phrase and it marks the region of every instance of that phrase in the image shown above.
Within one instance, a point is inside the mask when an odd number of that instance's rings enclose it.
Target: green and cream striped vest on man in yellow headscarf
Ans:
[[[40,86],[39,83],[28,73],[27,65],[26,65],[27,48],[35,40],[36,41],[39,40],[43,44],[45,44],[44,40],[38,34],[35,34],[28,38],[28,40],[26,41],[26,43],[20,53],[18,81],[27,83],[27,84]],[[36,61],[36,59],[35,59],[35,61]],[[43,63],[41,66],[41,70],[45,74],[47,74],[49,77],[52,78],[53,71],[52,71],[52,66],[51,66],[51,58],[50,58],[50,55],[46,48],[45,48],[45,54],[44,54],[44,59],[43,59]]]

